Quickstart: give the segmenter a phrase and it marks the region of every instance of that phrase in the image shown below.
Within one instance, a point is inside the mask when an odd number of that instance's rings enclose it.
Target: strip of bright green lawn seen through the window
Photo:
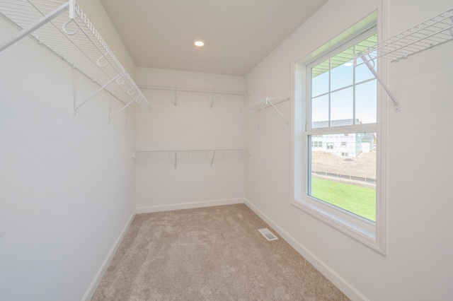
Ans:
[[[312,177],[311,196],[376,221],[376,189]]]

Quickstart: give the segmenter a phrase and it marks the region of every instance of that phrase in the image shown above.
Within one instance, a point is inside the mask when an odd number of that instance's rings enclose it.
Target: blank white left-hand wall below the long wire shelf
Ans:
[[[135,211],[134,129],[107,93],[73,117],[98,86],[29,37],[0,66],[0,299],[81,300]]]

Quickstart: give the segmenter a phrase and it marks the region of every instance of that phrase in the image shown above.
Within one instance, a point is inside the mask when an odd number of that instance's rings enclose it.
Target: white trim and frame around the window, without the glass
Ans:
[[[382,7],[374,7],[370,11],[364,13],[362,18],[356,24],[352,24],[351,28],[343,33],[340,33],[333,40],[323,45],[320,49],[324,49],[323,55],[326,55],[331,50],[339,45],[352,40],[354,37],[361,35],[367,29],[373,27],[376,23],[376,17],[371,17],[372,13],[377,12],[377,33],[378,39],[385,39],[384,24],[382,22]],[[374,22],[372,21],[374,20]],[[360,28],[360,29],[359,29]],[[355,33],[354,33],[355,32]],[[335,45],[333,45],[335,44]],[[313,52],[319,54],[319,49]],[[377,190],[376,190],[376,223],[373,223],[366,218],[361,218],[353,213],[344,211],[329,203],[319,201],[307,192],[306,171],[308,170],[308,153],[306,139],[308,132],[306,131],[306,66],[316,60],[313,54],[304,56],[302,59],[294,61],[293,63],[293,104],[292,104],[292,199],[293,206],[309,213],[311,216],[331,225],[333,228],[355,238],[355,240],[371,247],[381,254],[386,254],[386,198],[385,198],[385,175],[386,175],[386,112],[387,112],[387,99],[386,94],[383,92],[382,87],[377,84],[377,124],[361,125],[359,131],[363,131],[365,127],[369,128],[371,132],[377,132],[379,136],[379,143],[377,143]],[[378,73],[384,82],[386,81],[386,64],[381,61],[377,62]],[[358,129],[358,128],[357,128]],[[319,129],[318,129],[319,130]],[[330,134],[332,132],[338,134],[352,133],[355,131],[354,126],[348,126],[346,130],[343,126],[336,126],[326,129]],[[319,131],[316,131],[319,134]],[[302,155],[301,155],[302,154]],[[305,175],[304,175],[305,174]]]

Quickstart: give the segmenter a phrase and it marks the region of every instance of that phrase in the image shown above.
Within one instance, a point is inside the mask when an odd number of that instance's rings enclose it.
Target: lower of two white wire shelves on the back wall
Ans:
[[[214,159],[218,158],[219,155],[236,155],[243,156],[246,153],[245,149],[217,149],[217,150],[173,150],[173,151],[135,151],[132,153],[132,158],[165,158],[168,160],[174,160],[175,169],[178,166],[178,159],[183,158],[202,158],[211,167],[214,164]]]

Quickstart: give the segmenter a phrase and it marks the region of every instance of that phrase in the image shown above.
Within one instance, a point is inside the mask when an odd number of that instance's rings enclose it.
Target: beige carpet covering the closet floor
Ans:
[[[92,300],[348,300],[260,228],[244,204],[139,214]]]

